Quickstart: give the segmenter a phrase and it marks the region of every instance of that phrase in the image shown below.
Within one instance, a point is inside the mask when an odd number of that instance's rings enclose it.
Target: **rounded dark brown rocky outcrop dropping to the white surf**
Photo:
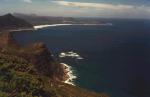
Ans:
[[[19,56],[34,64],[38,73],[49,76],[56,81],[63,80],[63,76],[65,76],[63,66],[53,58],[43,43],[35,43],[22,48]]]

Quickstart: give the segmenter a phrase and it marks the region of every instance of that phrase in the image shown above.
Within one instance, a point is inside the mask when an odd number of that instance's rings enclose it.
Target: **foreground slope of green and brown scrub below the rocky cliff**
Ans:
[[[0,54],[0,97],[107,97],[40,75],[20,57]]]

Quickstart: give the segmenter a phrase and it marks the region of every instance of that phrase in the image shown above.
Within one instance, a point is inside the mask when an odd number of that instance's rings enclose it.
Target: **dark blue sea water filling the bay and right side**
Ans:
[[[21,45],[42,41],[58,55],[79,53],[68,60],[75,84],[110,97],[150,97],[150,21],[105,20],[113,26],[60,26],[15,32]]]

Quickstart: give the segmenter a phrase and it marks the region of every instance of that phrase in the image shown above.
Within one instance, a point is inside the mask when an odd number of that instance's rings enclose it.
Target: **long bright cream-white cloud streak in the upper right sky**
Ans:
[[[150,7],[123,5],[123,4],[107,4],[107,3],[85,3],[85,2],[69,2],[69,1],[51,1],[55,4],[69,7],[93,8],[96,10],[112,10],[112,11],[127,11],[127,10],[144,10],[148,11]]]

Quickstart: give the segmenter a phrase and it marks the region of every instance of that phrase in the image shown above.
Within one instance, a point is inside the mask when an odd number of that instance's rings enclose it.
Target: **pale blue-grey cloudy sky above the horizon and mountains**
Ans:
[[[150,0],[0,0],[0,14],[150,19]]]

